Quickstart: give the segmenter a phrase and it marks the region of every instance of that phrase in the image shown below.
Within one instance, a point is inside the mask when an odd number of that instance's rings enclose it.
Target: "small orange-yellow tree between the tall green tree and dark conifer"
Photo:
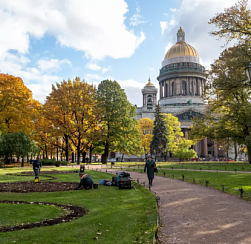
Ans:
[[[144,148],[145,158],[147,158],[153,138],[153,121],[150,118],[140,119],[138,121],[138,129],[141,135],[141,144]]]

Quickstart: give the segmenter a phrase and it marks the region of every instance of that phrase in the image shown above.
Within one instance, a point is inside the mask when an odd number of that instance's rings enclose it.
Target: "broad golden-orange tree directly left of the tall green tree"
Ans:
[[[89,137],[100,126],[100,113],[95,100],[95,88],[76,78],[52,86],[52,92],[44,105],[45,117],[53,124],[55,137],[61,135],[65,141],[66,160],[69,145],[80,152],[88,146]]]

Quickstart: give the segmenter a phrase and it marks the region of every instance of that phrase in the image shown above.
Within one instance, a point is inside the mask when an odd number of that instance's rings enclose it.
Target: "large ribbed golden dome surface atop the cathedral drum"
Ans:
[[[199,58],[199,54],[194,47],[187,44],[186,42],[177,42],[167,51],[165,59],[180,57],[180,56],[194,56]]]

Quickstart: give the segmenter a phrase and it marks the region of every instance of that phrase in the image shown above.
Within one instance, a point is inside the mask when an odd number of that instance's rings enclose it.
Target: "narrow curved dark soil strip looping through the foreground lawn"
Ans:
[[[23,225],[0,227],[0,233],[8,232],[8,231],[32,229],[34,227],[51,226],[51,225],[56,225],[60,223],[70,222],[74,219],[77,219],[87,214],[87,211],[84,208],[74,206],[74,205],[64,205],[64,204],[46,203],[46,202],[8,201],[8,200],[0,200],[0,203],[47,205],[47,206],[59,207],[66,211],[65,215],[54,218],[54,219],[43,220],[40,222],[28,223],[28,224],[23,224]]]

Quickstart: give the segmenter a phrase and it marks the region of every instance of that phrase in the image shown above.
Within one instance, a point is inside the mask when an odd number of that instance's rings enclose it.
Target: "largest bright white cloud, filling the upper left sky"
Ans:
[[[40,39],[47,33],[60,45],[93,59],[130,57],[145,35],[128,30],[127,12],[124,0],[0,0],[0,32],[4,33],[0,55],[10,49],[25,54],[31,36]]]

